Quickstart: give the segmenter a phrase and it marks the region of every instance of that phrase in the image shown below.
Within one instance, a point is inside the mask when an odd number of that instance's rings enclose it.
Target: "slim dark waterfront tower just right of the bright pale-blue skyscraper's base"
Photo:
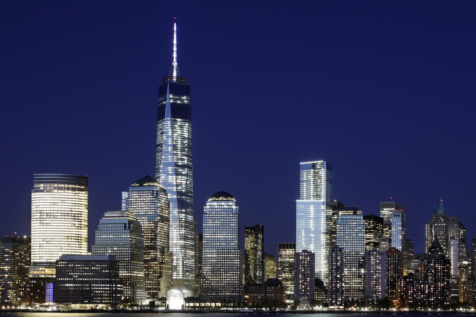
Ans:
[[[329,249],[329,308],[344,308],[344,249]]]

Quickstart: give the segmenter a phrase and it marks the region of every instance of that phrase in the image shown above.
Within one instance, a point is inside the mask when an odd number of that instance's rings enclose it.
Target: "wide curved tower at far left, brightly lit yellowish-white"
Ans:
[[[55,261],[62,254],[87,253],[88,176],[35,174],[30,278],[54,278]]]

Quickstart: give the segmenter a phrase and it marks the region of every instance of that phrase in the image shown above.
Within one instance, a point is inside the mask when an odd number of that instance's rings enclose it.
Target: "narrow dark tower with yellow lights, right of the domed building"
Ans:
[[[263,284],[266,280],[264,237],[262,224],[245,227],[245,284]]]

